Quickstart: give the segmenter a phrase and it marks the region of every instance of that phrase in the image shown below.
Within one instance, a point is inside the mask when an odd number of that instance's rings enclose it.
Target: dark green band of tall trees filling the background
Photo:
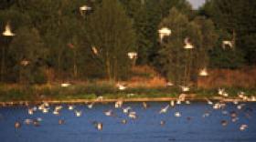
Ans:
[[[10,25],[15,35],[0,35],[1,81],[113,81],[127,79],[136,62],[186,85],[203,68],[253,66],[254,7],[244,0],[209,0],[198,10],[186,0],[3,0],[0,31]],[[160,40],[162,27],[171,35]]]

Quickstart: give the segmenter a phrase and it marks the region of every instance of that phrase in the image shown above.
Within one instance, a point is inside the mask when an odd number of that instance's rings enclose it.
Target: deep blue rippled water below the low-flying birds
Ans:
[[[28,115],[26,106],[0,107],[0,141],[1,142],[255,142],[256,141],[256,103],[246,104],[241,110],[228,104],[225,109],[215,110],[206,103],[192,103],[169,108],[166,114],[159,114],[161,107],[168,103],[148,103],[144,109],[142,103],[124,103],[123,107],[131,106],[138,115],[131,119],[123,114],[122,109],[114,108],[113,104],[96,104],[91,109],[85,105],[76,105],[75,109],[82,111],[81,117],[75,117],[74,110],[68,110],[67,105],[59,116],[52,114],[55,106],[50,106],[48,114],[40,111]],[[104,111],[112,109],[113,117],[104,115]],[[237,122],[231,122],[230,115],[223,111],[236,111]],[[181,117],[175,117],[180,112]],[[203,117],[206,112],[208,117]],[[224,112],[225,113],[225,112]],[[39,127],[25,125],[15,128],[15,122],[23,122],[26,118],[41,117]],[[59,125],[59,119],[65,123]],[[127,124],[122,120],[126,119]],[[222,120],[228,125],[223,127]],[[97,130],[93,122],[102,122],[103,129]],[[161,126],[160,122],[165,121]],[[248,128],[240,131],[240,126]]]

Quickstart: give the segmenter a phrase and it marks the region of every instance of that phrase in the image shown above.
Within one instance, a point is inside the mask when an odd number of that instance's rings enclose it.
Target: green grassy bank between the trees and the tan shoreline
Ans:
[[[226,88],[230,97],[237,96],[238,92],[245,92],[246,96],[255,96],[256,88]],[[62,87],[59,84],[51,86],[0,86],[0,101],[38,101],[38,100],[74,100],[95,99],[103,96],[108,99],[116,98],[155,98],[176,97],[181,94],[177,87],[128,87],[119,90],[112,84],[80,84]],[[218,89],[191,88],[188,94],[196,94],[196,97],[219,96]]]

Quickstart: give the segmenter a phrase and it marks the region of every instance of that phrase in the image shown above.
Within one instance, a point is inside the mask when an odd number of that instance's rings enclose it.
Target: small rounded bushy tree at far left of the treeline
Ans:
[[[20,27],[16,31],[16,37],[8,50],[8,56],[15,62],[13,67],[20,82],[37,82],[38,77],[44,76],[44,65],[48,51],[36,28]]]

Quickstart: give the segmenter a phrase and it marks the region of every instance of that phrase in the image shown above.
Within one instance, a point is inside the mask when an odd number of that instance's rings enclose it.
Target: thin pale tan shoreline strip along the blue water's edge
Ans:
[[[104,104],[104,103],[114,103],[117,101],[123,101],[123,102],[168,102],[168,101],[176,101],[178,100],[178,97],[134,97],[134,98],[103,98],[103,99],[67,99],[67,100],[36,100],[36,101],[30,101],[30,100],[23,100],[23,101],[6,101],[0,102],[0,106],[24,106],[29,104],[41,104],[44,102],[47,102],[48,104],[88,104],[88,103],[97,103],[97,104]],[[244,100],[240,97],[222,97],[222,96],[211,96],[211,97],[187,97],[185,98],[185,101],[191,101],[191,102],[207,102],[208,100],[211,101],[219,101],[219,102],[256,102],[255,100]],[[185,102],[182,101],[182,102]]]

